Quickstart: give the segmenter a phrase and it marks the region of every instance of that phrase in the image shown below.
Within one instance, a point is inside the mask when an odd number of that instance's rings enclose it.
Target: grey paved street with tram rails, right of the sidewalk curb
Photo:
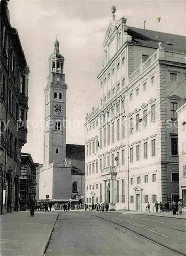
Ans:
[[[61,212],[46,255],[175,256],[180,255],[176,251],[185,255],[184,242],[183,219],[118,212]]]

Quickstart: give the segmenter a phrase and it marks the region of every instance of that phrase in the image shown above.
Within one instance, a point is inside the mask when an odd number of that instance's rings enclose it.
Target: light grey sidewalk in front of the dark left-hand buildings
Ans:
[[[57,212],[12,212],[1,215],[0,255],[41,256],[48,245]]]

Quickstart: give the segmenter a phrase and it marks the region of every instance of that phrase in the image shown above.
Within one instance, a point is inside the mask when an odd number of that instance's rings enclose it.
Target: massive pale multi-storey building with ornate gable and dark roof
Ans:
[[[110,21],[98,75],[100,103],[86,116],[85,200],[144,210],[179,199],[176,110],[184,103],[184,36]]]

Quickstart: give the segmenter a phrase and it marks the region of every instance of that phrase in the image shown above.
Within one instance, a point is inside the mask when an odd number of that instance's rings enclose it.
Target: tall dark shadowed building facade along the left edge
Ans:
[[[21,148],[27,142],[29,67],[18,32],[10,24],[7,1],[1,5],[0,204],[1,214],[19,209]]]

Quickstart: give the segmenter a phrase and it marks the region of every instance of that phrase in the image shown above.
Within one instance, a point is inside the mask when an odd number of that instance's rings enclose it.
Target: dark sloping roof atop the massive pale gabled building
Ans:
[[[185,36],[129,26],[127,28],[127,34],[132,37],[134,44],[158,48],[158,43],[161,42],[165,50],[186,52]]]

